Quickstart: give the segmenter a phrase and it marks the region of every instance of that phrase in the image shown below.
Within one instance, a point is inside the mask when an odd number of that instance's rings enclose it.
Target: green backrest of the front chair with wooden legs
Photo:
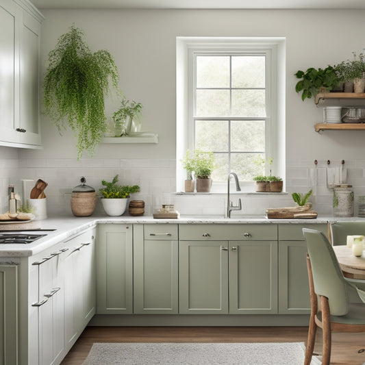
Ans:
[[[328,298],[332,315],[344,316],[349,312],[347,282],[329,240],[315,229],[303,228],[303,235],[312,265],[314,291]]]

